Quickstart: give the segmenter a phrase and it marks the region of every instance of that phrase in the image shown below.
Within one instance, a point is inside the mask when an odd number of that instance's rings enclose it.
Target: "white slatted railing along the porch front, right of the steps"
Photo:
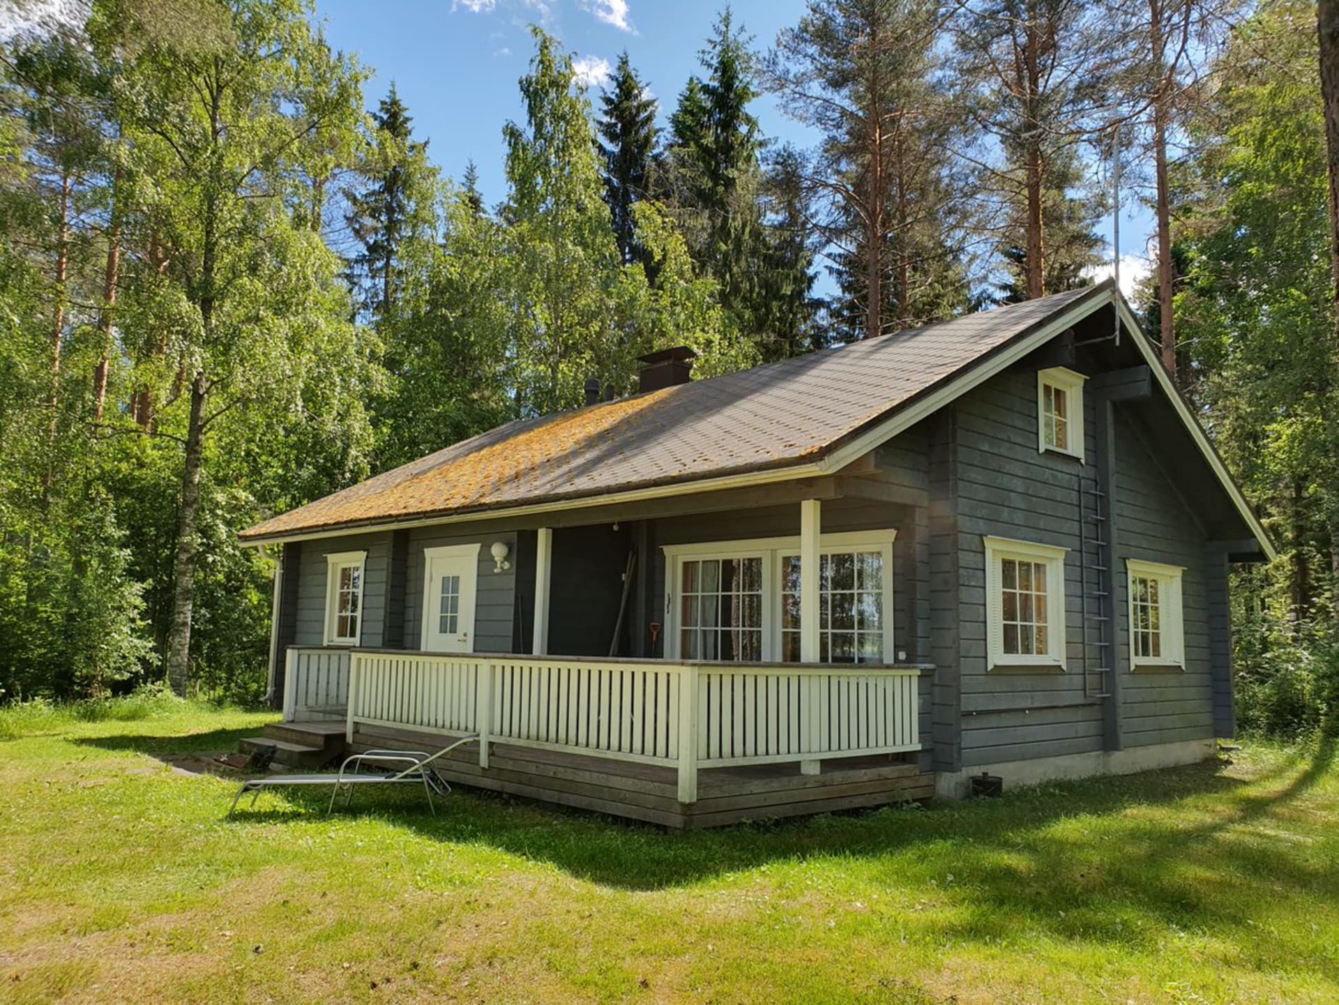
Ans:
[[[529,656],[355,652],[348,739],[359,723],[698,769],[920,749],[920,670],[671,664]]]

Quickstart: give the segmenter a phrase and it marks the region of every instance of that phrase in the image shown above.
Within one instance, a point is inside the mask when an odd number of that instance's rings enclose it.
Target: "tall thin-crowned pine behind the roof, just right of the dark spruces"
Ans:
[[[807,179],[823,194],[845,339],[965,306],[969,185],[951,154],[961,118],[937,78],[943,29],[927,0],[811,0],[769,58],[785,110],[825,134]]]

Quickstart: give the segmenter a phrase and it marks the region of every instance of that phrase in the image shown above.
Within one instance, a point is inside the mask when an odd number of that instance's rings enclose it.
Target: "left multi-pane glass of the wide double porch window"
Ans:
[[[762,558],[686,559],[680,577],[679,654],[686,660],[762,660]]]

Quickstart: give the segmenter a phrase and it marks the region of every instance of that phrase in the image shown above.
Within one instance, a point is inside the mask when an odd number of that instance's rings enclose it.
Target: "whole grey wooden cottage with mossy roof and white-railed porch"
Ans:
[[[1110,284],[503,426],[242,534],[270,728],[674,827],[1209,757],[1273,551]]]

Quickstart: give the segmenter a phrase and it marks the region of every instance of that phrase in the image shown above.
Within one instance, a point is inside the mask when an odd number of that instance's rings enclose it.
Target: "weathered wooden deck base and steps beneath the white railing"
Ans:
[[[349,748],[432,751],[442,743],[441,733],[359,723]],[[679,802],[671,767],[498,741],[487,768],[469,745],[438,769],[453,784],[687,830],[928,799],[935,776],[916,760],[915,753],[841,757],[822,761],[818,775],[801,775],[797,764],[704,768],[691,804]]]

